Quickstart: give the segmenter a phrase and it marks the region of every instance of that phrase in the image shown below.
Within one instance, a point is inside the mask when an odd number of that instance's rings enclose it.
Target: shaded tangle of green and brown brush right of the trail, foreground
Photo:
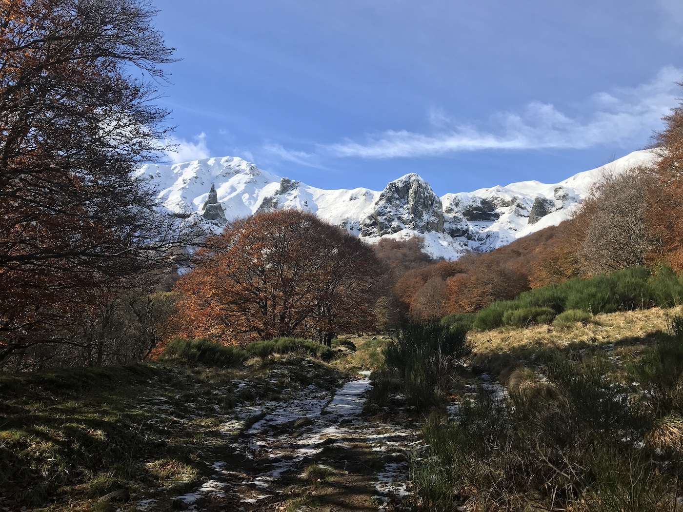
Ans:
[[[416,504],[443,512],[463,499],[472,510],[658,510],[680,464],[653,464],[657,455],[644,443],[652,417],[610,377],[616,367],[607,357],[574,358],[531,379],[548,392],[482,389],[460,403],[454,421],[430,417],[428,448],[412,464]]]

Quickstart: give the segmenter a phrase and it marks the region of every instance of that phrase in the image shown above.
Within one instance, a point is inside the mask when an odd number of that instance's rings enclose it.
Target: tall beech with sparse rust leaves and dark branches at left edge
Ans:
[[[84,317],[196,240],[131,174],[167,138],[154,85],[172,48],[153,16],[145,0],[0,0],[0,364],[81,350]]]

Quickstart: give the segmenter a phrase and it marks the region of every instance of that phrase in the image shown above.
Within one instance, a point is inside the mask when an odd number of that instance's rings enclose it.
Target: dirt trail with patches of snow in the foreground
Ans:
[[[366,373],[334,395],[309,386],[286,401],[242,410],[236,421],[255,423],[229,443],[232,453],[213,464],[204,485],[176,498],[176,508],[400,510],[408,454],[419,444],[417,425],[401,414],[391,423],[364,418],[369,388]]]

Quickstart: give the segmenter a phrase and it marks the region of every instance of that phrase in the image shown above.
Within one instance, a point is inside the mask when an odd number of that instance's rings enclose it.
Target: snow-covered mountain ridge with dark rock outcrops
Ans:
[[[296,208],[374,243],[380,238],[422,236],[435,257],[458,259],[466,251],[492,251],[558,225],[585,199],[605,172],[619,173],[656,160],[652,150],[633,152],[557,184],[536,181],[438,197],[410,173],[381,192],[367,188],[322,190],[258,169],[242,158],[207,158],[176,165],[145,165],[137,175],[158,190],[178,216],[202,216],[214,231],[225,221],[264,210]]]

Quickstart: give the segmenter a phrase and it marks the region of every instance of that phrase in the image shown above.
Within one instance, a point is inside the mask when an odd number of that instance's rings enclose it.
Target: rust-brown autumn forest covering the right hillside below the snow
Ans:
[[[663,118],[654,134],[653,167],[602,175],[572,218],[491,253],[458,261],[401,264],[395,292],[418,321],[474,313],[497,300],[570,279],[643,266],[683,270],[683,108]],[[381,242],[389,246],[392,242]],[[406,260],[407,261],[407,260]]]

